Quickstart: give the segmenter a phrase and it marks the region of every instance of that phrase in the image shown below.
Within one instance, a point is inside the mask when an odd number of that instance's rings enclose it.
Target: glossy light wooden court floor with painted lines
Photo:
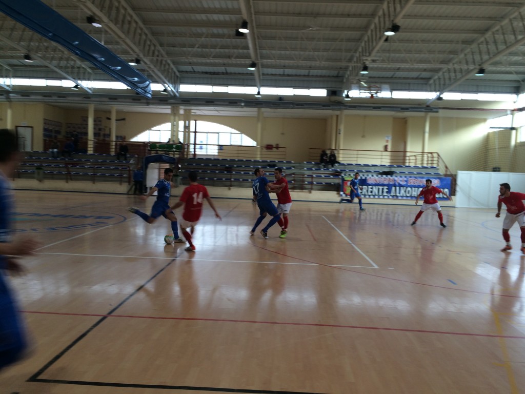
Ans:
[[[415,205],[295,202],[265,240],[255,204],[215,199],[190,254],[127,211],[153,198],[16,195],[41,247],[10,281],[32,349],[0,394],[525,393],[525,256],[517,226],[499,251],[496,206],[444,208],[443,229],[411,226]]]

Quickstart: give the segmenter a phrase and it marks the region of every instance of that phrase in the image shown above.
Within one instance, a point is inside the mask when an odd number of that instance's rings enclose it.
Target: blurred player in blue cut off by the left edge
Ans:
[[[28,239],[11,240],[13,193],[10,177],[18,165],[18,143],[13,132],[0,130],[0,370],[18,360],[27,346],[22,319],[4,274],[23,271],[15,256],[30,254],[38,244]]]

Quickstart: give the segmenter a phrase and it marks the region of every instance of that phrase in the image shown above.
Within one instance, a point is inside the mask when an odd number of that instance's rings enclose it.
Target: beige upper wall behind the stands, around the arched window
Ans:
[[[0,127],[7,126],[8,103],[0,103]],[[60,121],[62,123],[78,123],[81,117],[87,116],[85,110],[65,110],[51,105],[37,103],[12,103],[13,126],[32,126],[34,128],[33,149],[43,149],[42,133],[43,119]],[[130,107],[131,109],[131,107]],[[102,117],[103,127],[109,132],[111,107],[107,111],[96,111],[96,117]],[[309,148],[330,149],[334,139],[334,128],[337,128],[337,116],[327,119],[305,118],[263,118],[260,145],[279,144],[287,148],[287,160],[306,161]],[[420,152],[423,144],[424,117],[421,114],[411,114],[405,118],[393,116],[352,115],[346,112],[344,118],[343,149],[383,150],[385,137],[392,136],[391,151]],[[117,135],[125,135],[128,139],[137,136],[144,130],[170,121],[167,113],[117,112],[117,118],[125,117],[125,121],[117,123]],[[181,118],[182,119],[182,115]],[[229,126],[248,137],[257,139],[256,117],[227,117],[193,115],[192,120],[216,122]],[[510,150],[502,151],[508,146],[509,138],[501,133],[499,138],[487,136],[485,120],[477,118],[454,118],[439,115],[430,116],[430,133],[428,151],[438,152],[451,172],[458,170],[476,171],[480,163],[487,163],[488,169],[500,164],[500,159],[491,159],[496,146],[499,156],[506,158],[509,170],[522,167],[523,160],[517,158],[525,149],[524,143],[516,144],[514,160],[510,160]],[[522,156],[523,157],[523,156]],[[490,159],[490,160],[487,160]],[[489,162],[490,161],[490,162]],[[499,165],[500,164],[500,165]]]

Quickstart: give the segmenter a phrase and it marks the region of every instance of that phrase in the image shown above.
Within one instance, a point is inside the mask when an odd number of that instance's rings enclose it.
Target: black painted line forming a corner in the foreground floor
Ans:
[[[182,251],[181,251],[182,252]],[[232,389],[232,388],[219,388],[219,387],[196,387],[196,386],[169,386],[169,385],[140,385],[140,384],[131,384],[131,383],[113,383],[113,382],[89,382],[82,380],[61,380],[61,379],[40,379],[39,376],[44,374],[55,362],[57,362],[62,356],[64,356],[69,350],[71,350],[75,345],[77,345],[82,339],[84,339],[91,331],[97,328],[104,320],[106,320],[110,315],[115,313],[122,305],[128,302],[131,297],[141,291],[141,289],[148,285],[153,279],[159,276],[164,270],[169,267],[174,261],[177,260],[177,257],[180,257],[180,253],[170,260],[164,267],[162,267],[158,272],[156,272],[151,278],[144,282],[140,287],[135,289],[133,293],[124,298],[116,307],[111,309],[106,316],[100,318],[96,323],[84,331],[78,338],[72,341],[68,346],[66,346],[62,351],[60,351],[55,357],[51,358],[38,371],[35,372],[31,377],[26,381],[34,383],[55,383],[61,385],[82,385],[82,386],[103,386],[103,387],[123,387],[123,388],[149,388],[149,389],[160,389],[160,390],[195,390],[195,391],[217,391],[217,392],[238,392],[238,393],[256,393],[256,394],[321,394],[314,392],[301,392],[301,391],[275,391],[275,390],[243,390],[243,389]]]

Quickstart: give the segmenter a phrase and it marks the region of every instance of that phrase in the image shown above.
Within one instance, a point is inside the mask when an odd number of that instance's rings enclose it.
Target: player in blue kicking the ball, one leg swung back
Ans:
[[[142,219],[146,223],[153,223],[159,216],[164,216],[167,220],[171,221],[171,230],[173,231],[173,237],[175,238],[175,242],[178,243],[186,243],[182,238],[178,236],[178,222],[177,217],[173,213],[173,211],[170,210],[170,195],[171,195],[171,179],[173,177],[173,170],[171,168],[166,168],[164,170],[164,178],[159,179],[159,182],[153,186],[153,188],[149,191],[146,195],[141,195],[139,198],[143,201],[148,200],[148,197],[153,195],[156,191],[157,193],[157,200],[153,203],[153,206],[151,207],[151,213],[145,214],[144,212],[141,212],[138,208],[134,208],[133,206],[131,208],[128,208],[130,212],[133,212],[136,215],[139,215],[142,217]],[[169,213],[166,214],[166,211],[170,210]]]

